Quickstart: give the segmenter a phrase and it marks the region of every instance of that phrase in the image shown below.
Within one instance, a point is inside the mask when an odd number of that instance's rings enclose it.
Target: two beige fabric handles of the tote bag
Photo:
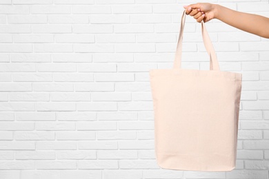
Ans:
[[[183,40],[183,30],[186,19],[186,10],[184,10],[183,15],[181,17],[181,26],[179,32],[179,39],[177,41],[177,51],[175,54],[175,61],[173,68],[181,68],[181,52],[182,52],[182,40]],[[210,56],[210,70],[219,70],[219,62],[217,61],[217,55],[215,54],[215,50],[208,36],[208,32],[206,30],[206,25],[203,21],[201,21],[201,30],[203,36],[203,44],[206,47],[206,51]]]

